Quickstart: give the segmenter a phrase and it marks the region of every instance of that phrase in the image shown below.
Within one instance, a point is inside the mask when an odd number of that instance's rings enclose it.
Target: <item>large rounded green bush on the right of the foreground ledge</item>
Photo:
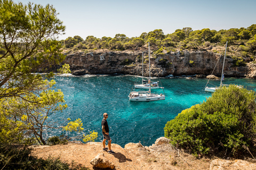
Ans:
[[[238,154],[255,144],[256,94],[235,85],[221,87],[202,104],[167,122],[165,137],[195,156],[212,151]]]

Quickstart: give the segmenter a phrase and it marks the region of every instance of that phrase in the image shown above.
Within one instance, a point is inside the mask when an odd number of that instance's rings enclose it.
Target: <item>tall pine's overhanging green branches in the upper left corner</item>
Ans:
[[[4,51],[0,54],[1,99],[36,90],[42,78],[31,72],[46,71],[65,60],[61,43],[53,39],[65,26],[51,5],[2,1],[0,8],[0,48]]]

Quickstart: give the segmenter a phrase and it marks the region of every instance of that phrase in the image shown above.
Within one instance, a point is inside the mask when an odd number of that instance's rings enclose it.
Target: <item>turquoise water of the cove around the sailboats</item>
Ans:
[[[67,117],[81,118],[85,133],[95,130],[97,141],[102,141],[101,120],[108,113],[112,142],[124,147],[129,142],[150,146],[164,136],[164,126],[183,109],[202,103],[210,92],[205,92],[206,79],[163,78],[165,100],[129,101],[135,77],[129,75],[86,75],[84,77],[55,77],[56,89],[61,89],[69,106],[54,120]],[[137,78],[138,80],[138,78]],[[158,79],[157,79],[158,80]],[[219,81],[213,81],[219,84]],[[256,91],[256,80],[225,78],[225,84],[242,84]],[[158,90],[155,90],[158,91]],[[75,134],[70,134],[75,135]]]

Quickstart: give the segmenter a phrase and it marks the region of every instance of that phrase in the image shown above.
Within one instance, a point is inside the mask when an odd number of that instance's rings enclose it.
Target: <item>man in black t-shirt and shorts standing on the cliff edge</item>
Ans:
[[[102,141],[103,151],[107,151],[109,149],[109,151],[108,151],[109,154],[115,154],[115,152],[113,150],[111,150],[111,138],[110,138],[110,135],[109,135],[107,118],[108,118],[108,114],[104,113],[103,114],[103,119],[101,121],[101,128],[102,128],[102,133],[103,133],[103,141]],[[106,140],[108,140],[108,148],[105,148],[106,147],[106,145],[105,145]]]

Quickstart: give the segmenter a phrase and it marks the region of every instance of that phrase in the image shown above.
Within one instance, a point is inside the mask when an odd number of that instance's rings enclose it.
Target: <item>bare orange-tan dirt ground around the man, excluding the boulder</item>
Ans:
[[[135,144],[133,144],[134,146]],[[33,155],[47,158],[58,157],[67,163],[76,163],[89,169],[97,170],[90,161],[99,153],[114,163],[114,169],[209,169],[212,159],[197,159],[185,152],[177,152],[170,145],[148,147],[126,147],[112,144],[116,154],[108,154],[102,150],[101,142],[68,143],[68,145],[38,146],[34,147]]]

